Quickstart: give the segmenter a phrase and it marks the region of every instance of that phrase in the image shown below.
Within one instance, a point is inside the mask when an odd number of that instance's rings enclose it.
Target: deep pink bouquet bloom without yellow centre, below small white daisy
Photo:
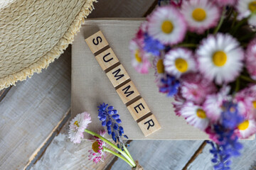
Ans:
[[[185,74],[181,77],[181,95],[187,101],[201,104],[208,94],[216,91],[213,81],[203,78],[199,73]]]

